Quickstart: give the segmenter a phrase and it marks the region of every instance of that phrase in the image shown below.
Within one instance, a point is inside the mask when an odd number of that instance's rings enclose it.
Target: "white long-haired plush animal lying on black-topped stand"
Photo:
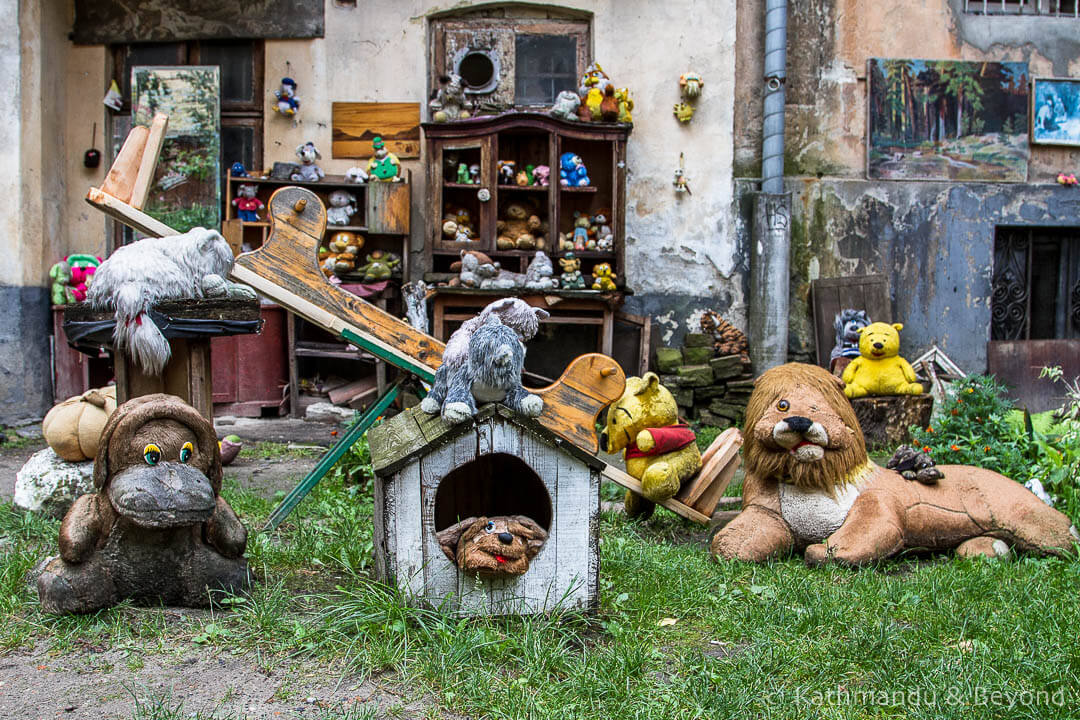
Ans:
[[[94,273],[86,301],[96,310],[113,310],[112,340],[151,375],[168,362],[168,340],[147,311],[162,300],[203,297],[249,297],[255,293],[225,279],[232,250],[215,230],[194,228],[183,235],[147,237],[118,248]]]

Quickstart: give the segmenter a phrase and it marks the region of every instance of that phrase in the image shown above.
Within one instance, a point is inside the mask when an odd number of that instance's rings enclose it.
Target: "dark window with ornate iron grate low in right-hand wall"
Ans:
[[[990,339],[1080,338],[1080,228],[998,228],[990,285]]]

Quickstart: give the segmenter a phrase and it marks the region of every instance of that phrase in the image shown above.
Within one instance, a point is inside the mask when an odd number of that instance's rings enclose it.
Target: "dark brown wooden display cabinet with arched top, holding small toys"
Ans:
[[[548,114],[508,112],[448,123],[424,123],[428,157],[428,223],[424,229],[427,267],[436,275],[449,272],[462,249],[481,250],[502,268],[524,272],[535,250],[499,250],[496,221],[511,202],[525,203],[549,223],[544,252],[558,256],[558,233],[573,234],[575,213],[605,213],[615,234],[611,252],[583,250],[581,272],[611,263],[623,287],[625,269],[626,138],[632,125],[568,122]],[[558,159],[564,152],[581,155],[591,184],[563,187],[558,184]],[[499,185],[498,161],[551,167],[546,187]],[[459,182],[458,166],[476,165],[476,184]],[[486,200],[485,200],[486,198]],[[471,242],[443,236],[443,217],[449,208],[463,208],[475,230]],[[558,266],[556,263],[556,274]],[[586,280],[591,279],[586,277]],[[598,293],[598,291],[597,291]]]

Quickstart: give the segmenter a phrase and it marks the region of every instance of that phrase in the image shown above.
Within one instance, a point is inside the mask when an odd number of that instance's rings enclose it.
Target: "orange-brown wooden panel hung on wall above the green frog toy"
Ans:
[[[330,118],[334,158],[370,158],[376,136],[399,158],[420,157],[419,103],[334,103]]]

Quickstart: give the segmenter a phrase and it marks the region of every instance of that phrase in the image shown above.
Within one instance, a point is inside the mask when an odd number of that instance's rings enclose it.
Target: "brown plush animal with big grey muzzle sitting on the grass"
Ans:
[[[38,576],[45,612],[86,613],[122,600],[205,607],[247,587],[247,530],[220,495],[214,426],[173,395],[144,395],[109,417],[96,492],[68,511],[59,557]]]

